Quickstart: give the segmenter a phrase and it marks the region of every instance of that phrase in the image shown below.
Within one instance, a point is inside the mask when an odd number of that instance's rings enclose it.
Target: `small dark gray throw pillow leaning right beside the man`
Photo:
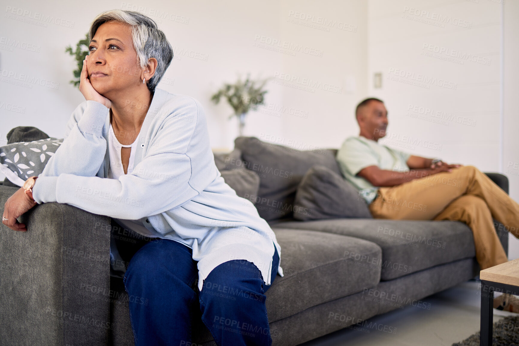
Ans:
[[[369,218],[370,208],[353,185],[330,168],[310,168],[297,188],[294,219]]]

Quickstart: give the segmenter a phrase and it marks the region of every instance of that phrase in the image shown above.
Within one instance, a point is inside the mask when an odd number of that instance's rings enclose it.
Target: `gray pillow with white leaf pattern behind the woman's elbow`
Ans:
[[[27,178],[43,172],[49,158],[62,143],[63,138],[51,137],[4,145],[0,147],[0,172],[21,187]]]

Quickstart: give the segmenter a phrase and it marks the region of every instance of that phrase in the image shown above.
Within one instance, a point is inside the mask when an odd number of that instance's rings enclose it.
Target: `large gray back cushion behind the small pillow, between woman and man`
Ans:
[[[238,137],[234,142],[241,150],[242,160],[229,164],[254,170],[260,175],[258,195],[250,200],[267,221],[292,218],[297,185],[313,165],[324,165],[340,174],[335,161],[336,150],[301,151],[255,137]]]

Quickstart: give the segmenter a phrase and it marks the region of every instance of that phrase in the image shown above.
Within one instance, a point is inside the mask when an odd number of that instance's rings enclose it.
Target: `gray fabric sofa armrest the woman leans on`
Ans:
[[[0,209],[19,188],[0,185]],[[57,202],[0,229],[4,345],[101,345],[110,325],[110,217]]]

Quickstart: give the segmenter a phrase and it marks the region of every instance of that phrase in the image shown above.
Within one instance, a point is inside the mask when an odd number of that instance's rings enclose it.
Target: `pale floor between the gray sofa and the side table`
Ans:
[[[386,332],[363,324],[361,330],[345,328],[301,346],[451,346],[480,329],[480,293],[480,282],[468,281],[422,299],[430,310],[407,306],[367,320],[387,325]],[[495,315],[494,322],[500,318]],[[388,332],[394,328],[394,334]]]

